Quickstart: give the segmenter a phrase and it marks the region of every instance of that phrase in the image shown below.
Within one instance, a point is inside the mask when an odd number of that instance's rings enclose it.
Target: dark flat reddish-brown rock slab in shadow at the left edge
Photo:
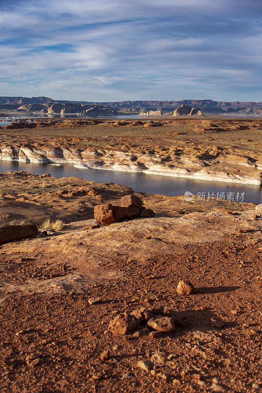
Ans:
[[[3,226],[0,228],[0,244],[25,239],[35,236],[37,233],[38,228],[34,224]]]

